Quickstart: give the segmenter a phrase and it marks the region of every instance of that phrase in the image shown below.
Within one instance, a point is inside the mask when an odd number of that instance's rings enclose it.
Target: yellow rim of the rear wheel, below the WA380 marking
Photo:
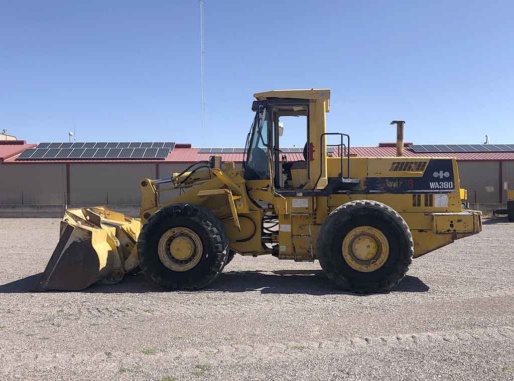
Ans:
[[[361,273],[380,269],[389,257],[389,242],[373,226],[357,226],[343,239],[342,254],[348,265]]]

